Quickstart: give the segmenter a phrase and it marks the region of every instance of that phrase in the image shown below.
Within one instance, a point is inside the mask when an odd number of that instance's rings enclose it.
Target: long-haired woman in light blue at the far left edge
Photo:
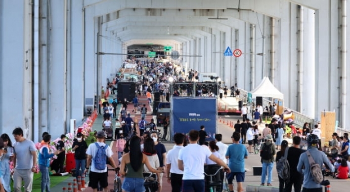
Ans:
[[[1,182],[3,184],[3,188],[6,192],[10,192],[10,161],[13,160],[13,147],[10,137],[4,133],[0,136],[3,140],[4,151],[0,157],[0,173],[1,173]],[[1,147],[1,146],[0,146]]]

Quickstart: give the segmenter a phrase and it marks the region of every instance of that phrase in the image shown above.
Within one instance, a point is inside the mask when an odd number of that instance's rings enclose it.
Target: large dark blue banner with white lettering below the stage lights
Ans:
[[[209,137],[214,137],[217,128],[216,98],[173,97],[173,134],[200,130],[201,125]]]

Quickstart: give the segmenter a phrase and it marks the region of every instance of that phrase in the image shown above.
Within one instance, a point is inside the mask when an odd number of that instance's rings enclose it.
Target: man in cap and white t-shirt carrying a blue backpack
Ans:
[[[105,169],[103,170],[99,170],[96,169],[94,166],[94,159],[95,159],[95,155],[97,154],[98,151],[98,147],[96,146],[96,144],[100,147],[104,147],[104,149],[106,150],[106,155],[107,158],[109,160],[109,162],[111,163],[111,166],[115,169],[117,168],[114,159],[112,157],[113,152],[112,149],[106,145],[104,143],[104,139],[105,139],[105,135],[104,135],[104,131],[98,131],[96,134],[97,137],[97,142],[96,143],[91,143],[88,146],[88,150],[86,151],[86,154],[88,155],[87,158],[87,166],[84,167],[84,174],[88,172],[89,166],[91,164],[90,167],[90,173],[88,175],[89,177],[89,183],[88,183],[88,187],[91,187],[93,192],[97,192],[97,187],[98,185],[100,185],[101,188],[103,188],[104,192],[108,191],[108,173],[107,173],[107,166]]]

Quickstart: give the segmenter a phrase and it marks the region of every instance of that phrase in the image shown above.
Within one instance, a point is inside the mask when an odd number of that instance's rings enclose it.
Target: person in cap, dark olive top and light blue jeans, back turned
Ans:
[[[262,162],[262,183],[260,184],[261,186],[265,185],[265,178],[266,178],[266,172],[268,172],[268,178],[267,178],[267,186],[272,186],[271,185],[271,181],[272,181],[272,168],[273,168],[273,155],[276,154],[276,150],[275,150],[275,145],[273,144],[273,138],[272,135],[268,134],[265,138],[266,142],[262,144],[261,146],[261,153],[264,150],[264,148],[271,148],[270,149],[270,154],[271,154],[271,158],[269,159],[261,159]],[[268,169],[268,170],[267,170]]]

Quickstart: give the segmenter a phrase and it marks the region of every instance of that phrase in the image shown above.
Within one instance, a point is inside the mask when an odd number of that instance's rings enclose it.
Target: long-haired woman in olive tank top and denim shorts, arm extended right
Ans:
[[[142,154],[140,149],[140,138],[131,137],[129,141],[129,152],[123,155],[121,162],[121,175],[125,176],[122,184],[122,190],[127,192],[144,192],[143,186],[143,165],[153,173],[163,172],[162,167],[154,169],[149,163],[146,154]],[[125,171],[127,170],[127,171]]]

